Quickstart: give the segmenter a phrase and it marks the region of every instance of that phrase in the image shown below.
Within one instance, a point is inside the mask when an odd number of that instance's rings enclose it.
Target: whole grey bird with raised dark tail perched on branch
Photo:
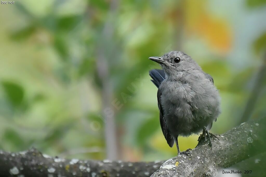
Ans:
[[[150,70],[149,75],[158,87],[160,124],[168,145],[173,147],[175,141],[178,155],[190,155],[191,149],[180,152],[177,137],[203,131],[199,140],[208,138],[211,146],[208,129],[221,112],[213,78],[183,52],[173,51],[149,59],[163,69]]]

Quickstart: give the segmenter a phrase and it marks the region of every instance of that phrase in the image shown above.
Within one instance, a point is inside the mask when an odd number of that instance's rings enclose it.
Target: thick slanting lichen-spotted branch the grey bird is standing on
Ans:
[[[192,158],[179,155],[166,161],[155,176],[217,176],[227,168],[265,151],[266,119],[243,123],[219,136],[209,145],[199,142],[190,153]]]

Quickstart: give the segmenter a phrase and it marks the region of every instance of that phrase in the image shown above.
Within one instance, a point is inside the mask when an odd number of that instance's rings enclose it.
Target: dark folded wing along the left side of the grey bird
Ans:
[[[159,107],[159,111],[160,111],[161,129],[162,129],[162,132],[164,134],[165,140],[167,141],[167,144],[172,148],[174,145],[174,139],[169,134],[169,131],[167,129],[167,125],[166,125],[166,122],[164,119],[164,110],[163,110],[163,107],[161,105],[161,90],[160,89],[158,89],[158,92],[157,92],[157,101],[158,101],[158,107]]]

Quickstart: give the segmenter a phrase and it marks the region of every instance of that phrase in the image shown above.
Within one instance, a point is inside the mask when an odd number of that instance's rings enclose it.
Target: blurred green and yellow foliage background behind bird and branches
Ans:
[[[16,0],[0,4],[0,149],[81,159],[176,155],[159,124],[150,56],[179,50],[214,78],[211,132],[265,116],[266,3]],[[198,135],[180,137],[181,150]],[[248,169],[246,169],[248,170]]]

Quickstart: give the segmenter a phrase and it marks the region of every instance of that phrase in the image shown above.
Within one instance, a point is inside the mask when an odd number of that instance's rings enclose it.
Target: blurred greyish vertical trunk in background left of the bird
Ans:
[[[111,109],[112,102],[112,85],[110,83],[110,69],[109,61],[112,61],[112,52],[108,46],[112,46],[114,25],[112,17],[118,8],[118,1],[114,0],[110,3],[108,18],[103,26],[102,35],[99,37],[99,44],[97,50],[97,72],[101,79],[102,85],[102,114],[105,122],[105,148],[106,157],[110,160],[118,159],[118,138],[115,123],[115,111]],[[119,51],[117,51],[119,52]]]

